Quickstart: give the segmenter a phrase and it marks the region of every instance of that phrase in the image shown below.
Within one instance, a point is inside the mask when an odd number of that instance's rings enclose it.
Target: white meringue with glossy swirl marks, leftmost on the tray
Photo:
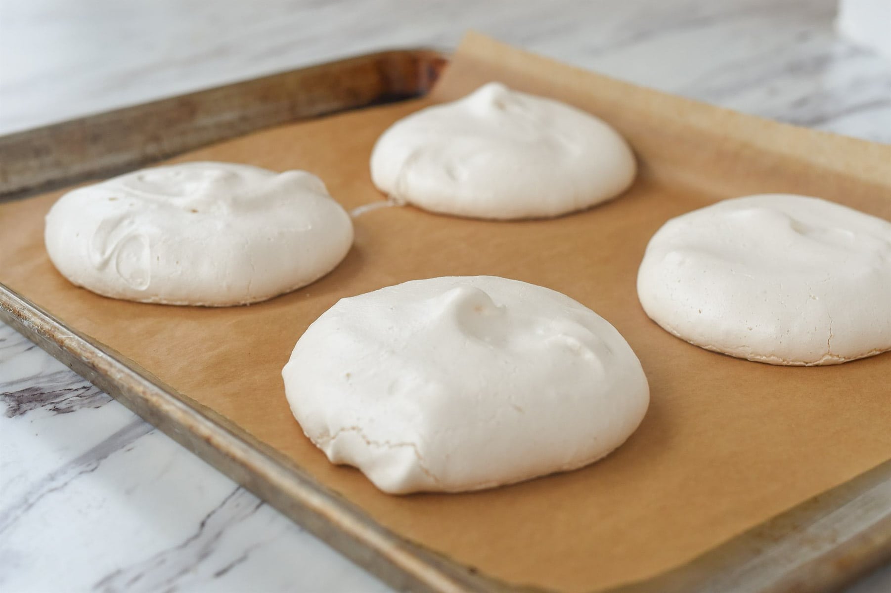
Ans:
[[[56,269],[103,296],[244,305],[340,263],[349,215],[305,171],[231,163],[151,167],[69,191],[46,215]]]

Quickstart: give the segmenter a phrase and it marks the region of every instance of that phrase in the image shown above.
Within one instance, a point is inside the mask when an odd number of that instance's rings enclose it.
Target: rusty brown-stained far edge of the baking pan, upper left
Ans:
[[[241,134],[426,94],[446,65],[391,50],[0,136],[0,199],[24,198]]]

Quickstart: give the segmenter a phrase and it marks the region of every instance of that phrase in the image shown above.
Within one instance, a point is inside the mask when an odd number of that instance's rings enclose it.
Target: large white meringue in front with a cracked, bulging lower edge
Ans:
[[[309,439],[390,493],[582,467],[625,442],[650,402],[640,361],[608,321],[495,276],[341,299],[300,337],[282,378]]]

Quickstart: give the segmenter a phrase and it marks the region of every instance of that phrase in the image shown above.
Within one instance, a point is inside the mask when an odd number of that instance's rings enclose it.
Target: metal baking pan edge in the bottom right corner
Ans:
[[[891,461],[610,593],[835,591],[891,558]]]

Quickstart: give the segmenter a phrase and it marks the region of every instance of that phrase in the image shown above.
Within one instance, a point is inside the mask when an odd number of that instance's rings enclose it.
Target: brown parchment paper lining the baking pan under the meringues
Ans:
[[[0,207],[0,281],[282,451],[380,524],[512,584],[590,591],[650,577],[891,457],[891,355],[802,369],[709,353],[659,329],[634,288],[651,234],[715,199],[797,191],[891,218],[891,147],[718,110],[470,35],[427,99],[281,126],[176,160],[305,168],[356,207],[382,199],[368,158],[388,125],[493,79],[617,126],[642,164],[634,187],[554,220],[372,210],[356,219],[356,245],[329,276],[224,309],[140,305],[71,286],[42,242],[54,192]],[[640,429],[593,466],[470,494],[388,496],[355,469],[331,466],[284,399],[280,370],[294,343],[341,296],[448,274],[535,282],[612,322],[650,380]]]

